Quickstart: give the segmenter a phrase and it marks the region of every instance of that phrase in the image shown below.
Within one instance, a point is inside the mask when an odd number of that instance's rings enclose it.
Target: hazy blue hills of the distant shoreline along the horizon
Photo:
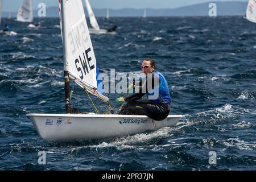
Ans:
[[[247,2],[214,2],[217,6],[217,16],[245,15]],[[209,2],[196,5],[179,7],[176,9],[146,9],[147,17],[169,17],[169,16],[208,16]],[[18,10],[17,10],[18,11]],[[106,9],[93,9],[96,17],[106,17]],[[110,18],[112,17],[142,17],[144,9],[109,9]],[[11,17],[16,17],[16,12],[10,12]],[[9,12],[4,11],[2,17],[8,17]],[[88,16],[85,9],[85,16]],[[38,17],[37,10],[34,10],[34,17]],[[46,17],[59,17],[57,6],[51,6],[46,9]]]

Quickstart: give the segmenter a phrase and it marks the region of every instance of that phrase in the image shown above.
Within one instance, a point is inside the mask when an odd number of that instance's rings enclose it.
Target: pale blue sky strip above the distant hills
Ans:
[[[82,0],[83,4],[84,0]],[[234,0],[217,0],[217,1],[234,1]],[[235,0],[247,2],[249,0]],[[3,11],[13,12],[18,11],[23,0],[3,0]],[[57,6],[58,0],[32,0],[33,9],[38,9],[39,3],[45,3],[47,6]],[[172,9],[182,6],[194,5],[203,2],[214,2],[208,0],[90,0],[90,5],[93,9],[123,9],[123,8],[134,8],[134,9]]]

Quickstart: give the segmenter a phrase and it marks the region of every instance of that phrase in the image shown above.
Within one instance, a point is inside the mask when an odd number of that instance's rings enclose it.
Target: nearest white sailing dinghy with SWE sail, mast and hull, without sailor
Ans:
[[[109,98],[97,92],[96,58],[81,0],[59,0],[59,3],[67,114],[27,114],[40,137],[52,141],[104,139],[175,126],[181,115],[152,121],[145,115],[72,114],[69,78],[102,101],[108,103]],[[86,75],[82,64],[88,65]]]

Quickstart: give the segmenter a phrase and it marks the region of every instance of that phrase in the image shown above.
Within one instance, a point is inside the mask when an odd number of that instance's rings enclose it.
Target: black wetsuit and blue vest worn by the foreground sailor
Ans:
[[[155,85],[154,80],[156,80],[156,82],[159,84]],[[125,101],[127,101],[127,103],[122,107],[121,110],[119,110],[118,114],[147,115],[155,121],[162,121],[163,119],[167,118],[168,114],[170,113],[171,104],[171,96],[168,91],[167,81],[162,74],[160,74],[158,77],[153,74],[152,81],[150,82],[148,81],[148,78],[144,83],[140,82],[139,93],[135,93],[129,97],[126,97]],[[152,87],[148,87],[148,84],[152,84]],[[149,90],[147,90],[147,88],[154,89],[156,86],[161,87],[161,84],[164,86],[164,91],[160,92],[159,90],[159,96],[156,100],[137,101],[145,94],[148,96]],[[142,93],[143,89],[146,90],[146,93]]]

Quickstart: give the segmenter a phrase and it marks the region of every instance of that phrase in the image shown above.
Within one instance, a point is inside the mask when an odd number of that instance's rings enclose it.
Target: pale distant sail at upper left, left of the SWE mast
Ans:
[[[19,22],[33,22],[32,0],[24,0],[17,14]]]

